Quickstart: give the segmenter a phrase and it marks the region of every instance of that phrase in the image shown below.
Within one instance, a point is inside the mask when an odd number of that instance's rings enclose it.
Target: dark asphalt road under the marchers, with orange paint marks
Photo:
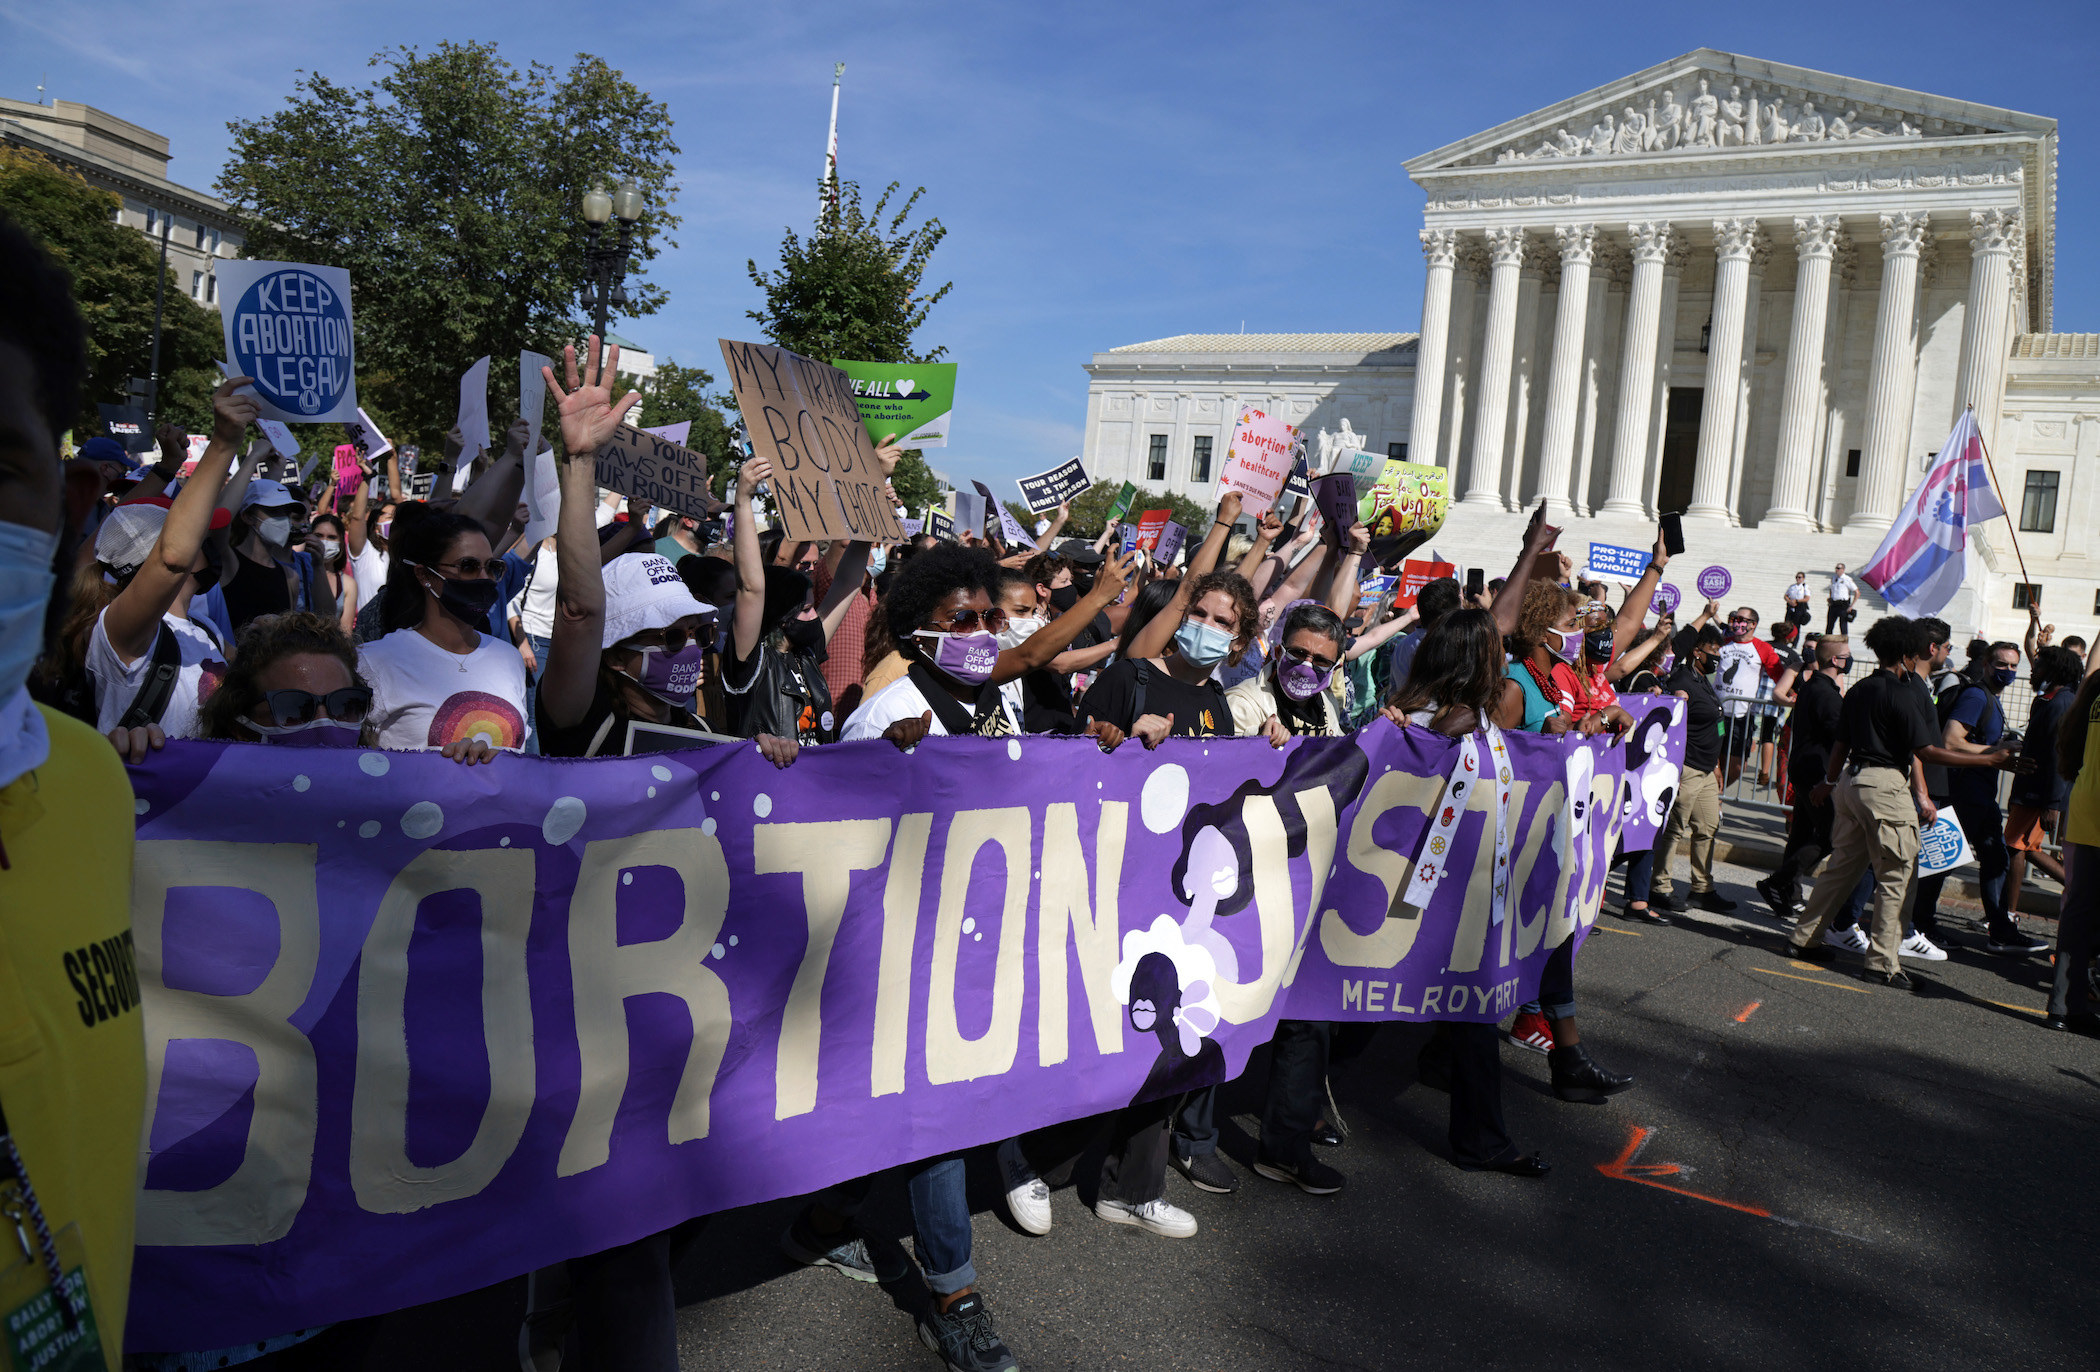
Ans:
[[[2041,1027],[2048,962],[1976,933],[1911,964],[1917,994],[1869,988],[1852,956],[1789,962],[1756,874],[1720,876],[1735,916],[1606,914],[1577,964],[1583,1042],[1634,1090],[1564,1105],[1544,1057],[1504,1048],[1544,1181],[1449,1164],[1411,1025],[1336,1074],[1334,1198],[1247,1166],[1260,1057],[1222,1103],[1243,1189],[1168,1181],[1193,1240],[1107,1225],[1071,1187],[1050,1235],[1021,1233],[974,1160],[981,1290],[1021,1366],[2100,1366],[2100,1042]],[[792,1214],[722,1214],[693,1246],[685,1366],[939,1368],[907,1313],[924,1294],[792,1269],[773,1246]],[[874,1223],[909,1233],[901,1187]],[[521,1303],[510,1284],[397,1315],[368,1366],[517,1368]]]

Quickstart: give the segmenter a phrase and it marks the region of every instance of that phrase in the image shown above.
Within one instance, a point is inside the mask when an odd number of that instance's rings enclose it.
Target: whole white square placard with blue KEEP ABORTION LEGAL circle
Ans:
[[[256,378],[262,418],[357,420],[351,273],[300,263],[218,263],[218,317],[235,374]]]

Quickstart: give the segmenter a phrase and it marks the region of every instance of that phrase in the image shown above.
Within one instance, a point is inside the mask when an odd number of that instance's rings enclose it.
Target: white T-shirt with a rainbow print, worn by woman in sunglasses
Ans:
[[[481,737],[512,752],[525,746],[525,662],[502,639],[449,653],[414,628],[397,628],[357,653],[372,683],[380,748],[418,750]]]

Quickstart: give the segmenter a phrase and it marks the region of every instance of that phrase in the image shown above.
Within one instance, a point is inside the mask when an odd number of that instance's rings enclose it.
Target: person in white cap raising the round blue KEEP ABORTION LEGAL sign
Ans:
[[[225,674],[218,637],[191,609],[218,576],[208,529],[227,517],[212,502],[258,414],[256,399],[233,387],[212,395],[212,441],[183,490],[122,504],[103,521],[94,561],[74,584],[65,647],[40,674],[44,700],[90,719],[132,763],[164,740],[195,737],[197,708]]]

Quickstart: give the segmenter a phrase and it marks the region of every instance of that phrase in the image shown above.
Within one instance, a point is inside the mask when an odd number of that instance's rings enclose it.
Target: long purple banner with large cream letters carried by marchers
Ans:
[[[1628,754],[1508,735],[1497,792],[1487,748],[1386,721],[783,771],[168,744],[132,769],[128,1343],[437,1301],[1231,1080],[1279,1017],[1499,1019],[1596,918]]]

